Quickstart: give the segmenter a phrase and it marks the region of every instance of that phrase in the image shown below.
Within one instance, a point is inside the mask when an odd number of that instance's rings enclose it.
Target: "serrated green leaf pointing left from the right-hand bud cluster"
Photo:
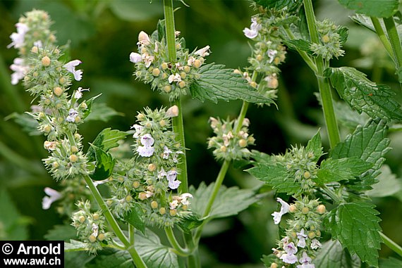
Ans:
[[[246,172],[252,174],[256,179],[264,181],[265,184],[272,186],[278,193],[292,195],[300,190],[300,184],[294,178],[288,177],[286,168],[282,165],[263,164],[252,167]]]

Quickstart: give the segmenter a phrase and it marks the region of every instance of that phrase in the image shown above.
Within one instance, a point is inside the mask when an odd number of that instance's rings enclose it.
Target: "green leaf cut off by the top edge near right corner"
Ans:
[[[398,11],[398,0],[339,0],[346,8],[372,17],[389,18]]]

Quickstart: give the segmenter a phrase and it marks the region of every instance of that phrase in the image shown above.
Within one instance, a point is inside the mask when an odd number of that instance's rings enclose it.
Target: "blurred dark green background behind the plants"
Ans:
[[[211,46],[208,63],[222,63],[229,68],[244,68],[250,55],[248,39],[243,28],[250,26],[255,12],[250,1],[188,0],[189,8],[180,1],[176,13],[176,30],[185,37],[186,46],[193,50]],[[381,44],[373,34],[354,25],[347,11],[334,0],[314,1],[317,18],[330,18],[335,23],[350,27],[346,43],[346,56],[334,60],[333,65],[353,65],[366,72],[370,79],[389,84],[401,99],[396,84],[393,63],[387,58]],[[121,113],[91,121],[80,127],[84,143],[95,139],[105,127],[128,130],[135,122],[138,110],[145,106],[157,108],[169,105],[165,96],[152,92],[150,87],[134,80],[133,64],[128,55],[135,51],[138,32],[149,34],[157,21],[163,18],[162,1],[153,0],[20,0],[0,1],[0,239],[44,239],[44,235],[57,224],[68,219],[60,218],[52,208],[42,210],[44,187],[58,189],[42,166],[47,156],[42,136],[30,136],[9,115],[30,110],[30,96],[20,85],[11,86],[8,66],[16,58],[15,49],[6,49],[15,32],[18,18],[32,8],[43,9],[54,20],[59,45],[68,44],[71,58],[83,61],[83,80],[73,88],[90,87],[86,97],[102,93],[98,102]],[[322,113],[314,93],[315,77],[303,61],[288,51],[286,63],[281,66],[278,110],[275,107],[252,106],[250,132],[255,134],[259,151],[284,153],[290,144],[305,143],[323,126]],[[236,117],[240,101],[200,103],[190,96],[183,99],[185,140],[188,151],[190,184],[214,181],[219,164],[206,149],[207,137],[212,131],[207,124],[209,116]],[[324,127],[323,127],[324,129]],[[351,129],[344,127],[343,134]],[[324,136],[324,146],[327,141]],[[387,164],[401,177],[402,135],[390,134],[391,146]],[[326,148],[327,149],[327,148]],[[400,179],[397,179],[400,184]],[[251,188],[258,182],[244,172],[232,168],[224,181],[227,186]],[[391,189],[393,186],[390,186]],[[386,198],[374,198],[382,213],[384,233],[402,244],[402,192]],[[277,227],[271,213],[276,210],[272,193],[238,217],[219,219],[210,223],[202,238],[204,267],[262,267],[260,257],[271,253],[277,236]],[[382,257],[392,255],[383,247]]]

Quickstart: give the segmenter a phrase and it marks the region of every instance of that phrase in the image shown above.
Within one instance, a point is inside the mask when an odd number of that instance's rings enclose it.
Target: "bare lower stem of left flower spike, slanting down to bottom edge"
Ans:
[[[101,208],[104,217],[106,218],[107,222],[109,223],[111,229],[114,231],[114,234],[116,234],[118,239],[120,239],[121,243],[123,243],[123,245],[126,247],[126,250],[128,251],[128,253],[130,253],[131,257],[133,258],[134,264],[138,268],[147,268],[147,265],[145,264],[145,262],[142,260],[140,255],[138,255],[137,250],[135,250],[134,245],[130,244],[130,241],[127,240],[126,236],[123,234],[123,231],[121,231],[120,226],[118,226],[116,219],[114,219],[109,208],[107,208],[106,203],[104,203],[104,200],[103,200],[101,194],[99,193],[97,187],[93,183],[90,176],[85,175],[83,177],[84,177],[85,182],[87,183],[87,186],[90,188],[92,196],[95,198],[95,200],[97,200],[99,208]]]

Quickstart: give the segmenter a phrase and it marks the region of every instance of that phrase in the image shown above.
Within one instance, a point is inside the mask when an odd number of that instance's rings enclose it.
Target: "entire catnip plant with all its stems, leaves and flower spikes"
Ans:
[[[381,243],[402,256],[402,248],[382,233],[379,212],[367,195],[390,150],[387,131],[402,120],[394,92],[355,68],[331,67],[331,60],[345,54],[348,29],[330,20],[318,21],[311,0],[250,3],[255,15],[243,30],[251,48],[249,65],[232,70],[208,62],[214,49],[208,44],[185,47],[185,37],[175,28],[173,1],[164,0],[164,19],[157,30],[139,32],[138,49],[127,54],[135,78],[162,94],[166,106],[143,108],[123,131],[102,130],[87,151],[83,144],[88,141],[78,127],[99,96],[85,100],[90,89],[75,89],[75,83],[85,82],[81,60],[69,59],[66,48],[56,45],[45,11],[30,11],[20,18],[9,45],[18,49],[11,83],[23,82],[36,103],[28,114],[46,137],[49,156],[43,162],[62,189],[45,188],[42,206],[49,209],[57,203],[57,211],[71,217],[77,239],[65,243],[67,252],[97,255],[98,267],[201,267],[199,245],[205,225],[237,215],[261,199],[259,191],[267,191],[262,186],[255,191],[223,185],[230,165],[241,162],[280,205],[272,213],[279,239],[272,254],[262,257],[266,267],[379,267]],[[402,83],[398,1],[339,3],[354,9],[353,20],[378,35]],[[257,151],[246,113],[250,104],[276,108],[287,50],[296,51],[317,77],[325,125],[305,146],[268,155]],[[334,100],[332,89],[344,103]],[[188,94],[201,102],[242,101],[237,118],[211,115],[205,122],[214,133],[207,147],[221,169],[214,183],[197,189],[189,186],[187,172],[181,102]],[[360,121],[346,118],[345,124],[339,107],[354,117],[365,113],[367,119],[358,125],[355,122]],[[339,132],[343,124],[353,125],[345,139]],[[322,132],[329,152],[324,152]],[[107,194],[99,191],[100,184]],[[169,245],[154,229],[164,233]],[[113,263],[102,263],[107,257],[104,250],[111,250]],[[396,259],[386,263],[402,265]]]

